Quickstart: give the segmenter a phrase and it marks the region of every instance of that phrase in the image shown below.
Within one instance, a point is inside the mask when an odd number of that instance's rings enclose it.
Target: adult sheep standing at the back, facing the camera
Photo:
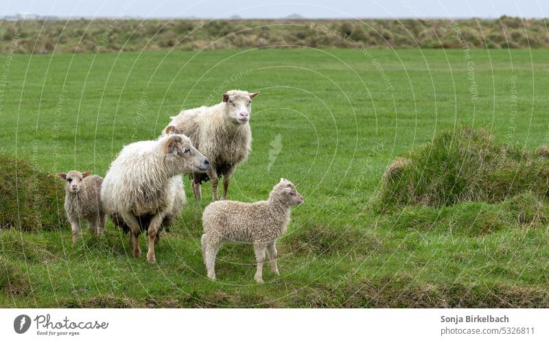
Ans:
[[[259,91],[229,90],[223,94],[223,101],[215,106],[183,110],[170,118],[169,125],[189,136],[195,147],[211,162],[212,167],[207,173],[189,174],[196,199],[200,200],[201,197],[200,184],[211,180],[213,201],[216,201],[221,176],[224,177],[221,198],[226,199],[235,167],[250,154],[252,132],[248,122],[251,102],[257,95]]]

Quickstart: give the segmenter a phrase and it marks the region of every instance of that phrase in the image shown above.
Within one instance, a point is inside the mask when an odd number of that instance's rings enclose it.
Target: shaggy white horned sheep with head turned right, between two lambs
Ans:
[[[162,228],[179,216],[185,204],[181,173],[205,172],[209,160],[183,134],[127,145],[110,164],[101,199],[115,225],[130,232],[133,255],[141,256],[139,234],[148,234],[147,260],[156,262],[154,245]]]

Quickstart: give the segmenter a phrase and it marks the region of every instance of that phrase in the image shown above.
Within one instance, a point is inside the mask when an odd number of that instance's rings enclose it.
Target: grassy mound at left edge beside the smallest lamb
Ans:
[[[64,195],[54,175],[0,154],[0,229],[56,230],[66,221]]]

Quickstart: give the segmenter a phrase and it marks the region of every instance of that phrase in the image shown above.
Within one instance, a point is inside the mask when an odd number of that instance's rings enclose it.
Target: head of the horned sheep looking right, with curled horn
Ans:
[[[209,170],[210,161],[198,149],[191,145],[191,140],[183,134],[170,134],[163,141],[168,167],[174,168],[174,174]]]

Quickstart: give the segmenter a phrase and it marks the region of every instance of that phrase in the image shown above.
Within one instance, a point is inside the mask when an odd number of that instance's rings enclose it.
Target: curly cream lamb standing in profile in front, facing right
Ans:
[[[257,270],[255,281],[263,282],[265,252],[270,259],[272,272],[279,275],[277,265],[277,239],[288,229],[290,206],[303,203],[303,197],[292,182],[281,178],[272,188],[267,201],[242,203],[215,201],[202,214],[202,256],[208,278],[215,280],[215,256],[223,241],[251,243],[255,252]]]

